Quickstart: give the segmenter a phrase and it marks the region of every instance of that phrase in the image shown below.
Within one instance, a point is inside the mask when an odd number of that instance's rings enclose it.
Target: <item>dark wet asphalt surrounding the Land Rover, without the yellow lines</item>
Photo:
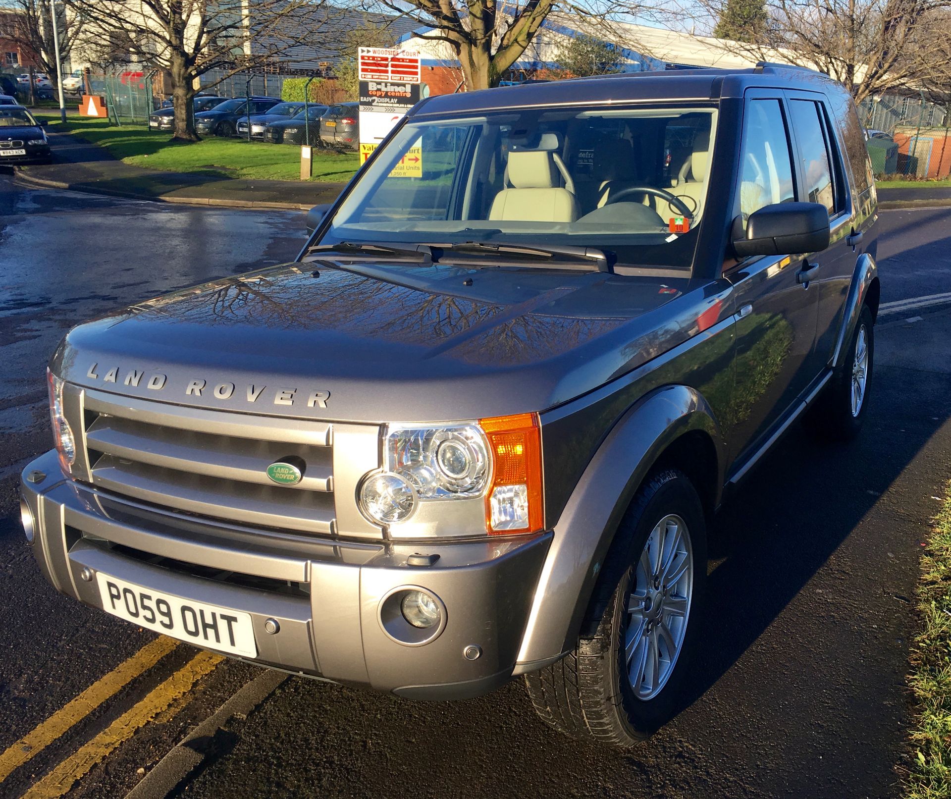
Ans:
[[[54,594],[22,543],[18,470],[49,448],[44,368],[75,322],[292,258],[303,216],[129,203],[0,176],[0,750],[149,639]],[[882,216],[883,302],[951,291],[951,209]],[[951,477],[951,309],[877,328],[863,436],[796,428],[716,523],[705,641],[685,710],[628,752],[534,718],[520,684],[456,704],[290,679],[219,742],[186,796],[892,796],[920,541]],[[187,657],[146,675],[15,772],[16,795]],[[164,671],[163,671],[164,670]],[[256,674],[226,663],[174,719],[96,767],[122,795]]]

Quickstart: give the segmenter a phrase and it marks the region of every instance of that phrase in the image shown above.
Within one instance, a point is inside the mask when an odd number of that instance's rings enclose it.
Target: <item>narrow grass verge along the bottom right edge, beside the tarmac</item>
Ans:
[[[922,554],[918,588],[922,632],[911,653],[909,683],[918,717],[905,799],[951,796],[951,483]]]

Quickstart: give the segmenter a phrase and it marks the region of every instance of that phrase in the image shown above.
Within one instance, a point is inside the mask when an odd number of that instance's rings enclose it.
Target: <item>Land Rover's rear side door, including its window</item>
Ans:
[[[810,291],[818,297],[816,361],[821,369],[832,360],[842,322],[848,286],[857,255],[850,235],[856,229],[856,212],[849,192],[843,146],[835,135],[825,95],[811,91],[787,91],[792,131],[799,151],[803,185],[802,199],[825,205],[829,212],[829,245],[821,253],[809,253],[806,260],[818,265]]]

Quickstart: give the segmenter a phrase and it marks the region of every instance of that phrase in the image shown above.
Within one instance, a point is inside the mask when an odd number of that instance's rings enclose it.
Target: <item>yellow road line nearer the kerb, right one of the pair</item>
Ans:
[[[176,699],[191,691],[205,674],[213,672],[223,661],[221,654],[201,652],[164,683],[147,693],[145,698],[123,713],[84,746],[51,770],[42,780],[23,794],[23,799],[57,799],[101,763],[120,744],[132,737]]]

